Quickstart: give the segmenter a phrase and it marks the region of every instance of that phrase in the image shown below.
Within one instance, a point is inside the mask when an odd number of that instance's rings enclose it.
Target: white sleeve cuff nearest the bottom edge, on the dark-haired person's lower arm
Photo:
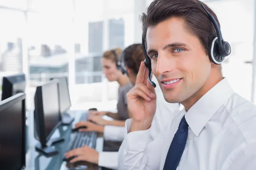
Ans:
[[[100,167],[106,167],[117,170],[118,152],[100,152],[99,162]]]

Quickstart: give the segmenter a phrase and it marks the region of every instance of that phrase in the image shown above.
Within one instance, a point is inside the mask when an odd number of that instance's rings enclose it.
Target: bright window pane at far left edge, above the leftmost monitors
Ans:
[[[5,3],[7,5],[7,3]],[[8,17],[6,17],[8,16]],[[0,90],[4,76],[23,72],[23,12],[0,9]]]

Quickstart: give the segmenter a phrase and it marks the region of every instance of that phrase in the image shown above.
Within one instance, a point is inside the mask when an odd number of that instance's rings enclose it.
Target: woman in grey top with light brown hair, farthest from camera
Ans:
[[[115,48],[113,50],[106,51],[102,57],[103,72],[106,75],[108,81],[116,81],[119,84],[118,99],[117,99],[117,113],[108,111],[90,111],[89,113],[93,116],[89,117],[91,120],[99,125],[113,125],[113,126],[125,126],[125,120],[129,118],[127,111],[127,100],[126,94],[133,88],[133,85],[129,82],[128,77],[117,68],[117,62],[120,59],[122,49]],[[113,118],[113,121],[107,121],[102,119],[103,115],[107,115]],[[80,122],[82,125],[84,122]]]

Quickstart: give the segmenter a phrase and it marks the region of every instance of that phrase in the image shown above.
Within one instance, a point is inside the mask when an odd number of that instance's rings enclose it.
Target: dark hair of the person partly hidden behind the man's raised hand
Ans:
[[[124,64],[131,69],[134,74],[138,74],[140,62],[144,61],[142,44],[132,44],[125,48],[122,54]]]

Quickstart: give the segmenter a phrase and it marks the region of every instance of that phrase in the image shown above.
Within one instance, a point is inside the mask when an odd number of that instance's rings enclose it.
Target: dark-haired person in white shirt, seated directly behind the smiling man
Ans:
[[[145,59],[143,54],[143,49],[141,44],[133,44],[128,46],[122,55],[122,62],[125,65],[126,72],[130,79],[132,85],[136,83],[136,77],[140,68],[141,62]],[[179,110],[179,104],[167,103],[161,92],[161,89],[157,86],[156,88],[157,94],[157,110],[154,116],[154,120],[151,127],[151,140],[154,140],[159,132],[163,130],[164,126],[168,123],[168,120],[172,116],[175,111]],[[100,114],[100,113],[99,113]],[[96,131],[96,132],[104,132],[105,140],[111,141],[122,141],[124,139],[126,130],[125,127],[113,127],[113,126],[101,126],[96,125],[92,122],[80,122],[76,125],[76,127],[87,126],[86,129],[80,129],[80,131]],[[112,128],[111,135],[107,136],[105,134],[105,130]],[[66,153],[66,157],[69,158],[71,156],[80,155],[79,157],[71,160],[70,162],[76,161],[88,161],[94,164],[98,164],[101,167],[107,167],[111,169],[117,169],[118,164],[118,152],[101,152],[98,153],[93,148],[84,146],[83,148],[78,148],[76,150],[72,150]]]

